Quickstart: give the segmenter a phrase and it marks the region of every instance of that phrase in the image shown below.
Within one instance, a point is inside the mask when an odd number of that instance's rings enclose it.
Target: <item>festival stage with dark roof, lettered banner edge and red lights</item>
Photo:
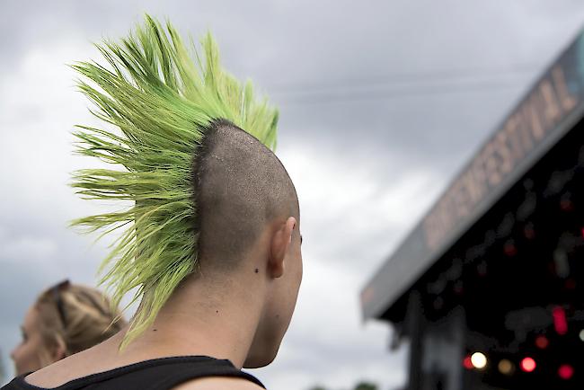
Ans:
[[[584,31],[361,291],[411,390],[584,388]]]

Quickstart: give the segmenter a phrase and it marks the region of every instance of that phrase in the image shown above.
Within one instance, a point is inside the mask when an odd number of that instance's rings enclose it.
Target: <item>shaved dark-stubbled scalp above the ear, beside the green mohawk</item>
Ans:
[[[206,129],[193,176],[200,259],[233,266],[267,224],[299,217],[296,189],[278,157],[227,120]]]

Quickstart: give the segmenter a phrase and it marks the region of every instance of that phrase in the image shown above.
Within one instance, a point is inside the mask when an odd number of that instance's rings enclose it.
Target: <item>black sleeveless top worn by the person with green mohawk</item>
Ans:
[[[24,380],[28,374],[15,377],[0,390],[40,390]],[[182,356],[140,361],[109,371],[80,377],[54,390],[167,390],[202,377],[240,377],[265,388],[250,374],[234,367],[229,360],[207,356]]]

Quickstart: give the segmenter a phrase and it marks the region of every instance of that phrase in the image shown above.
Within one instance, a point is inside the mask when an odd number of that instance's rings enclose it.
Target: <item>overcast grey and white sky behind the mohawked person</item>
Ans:
[[[305,277],[272,389],[401,386],[407,349],[363,324],[358,292],[584,24],[580,0],[0,2],[0,350],[41,289],[94,284],[104,244],[66,228],[94,205],[69,173],[96,123],[65,64],[99,58],[143,13],[208,29],[224,65],[279,105],[278,155],[301,204]]]

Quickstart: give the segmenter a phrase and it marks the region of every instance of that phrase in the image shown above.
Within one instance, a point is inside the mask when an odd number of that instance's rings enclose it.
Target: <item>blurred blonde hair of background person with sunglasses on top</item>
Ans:
[[[59,344],[66,356],[91,348],[127,324],[118,310],[111,310],[110,300],[102,292],[68,281],[40,294],[35,307],[47,349],[40,351],[41,360]]]

